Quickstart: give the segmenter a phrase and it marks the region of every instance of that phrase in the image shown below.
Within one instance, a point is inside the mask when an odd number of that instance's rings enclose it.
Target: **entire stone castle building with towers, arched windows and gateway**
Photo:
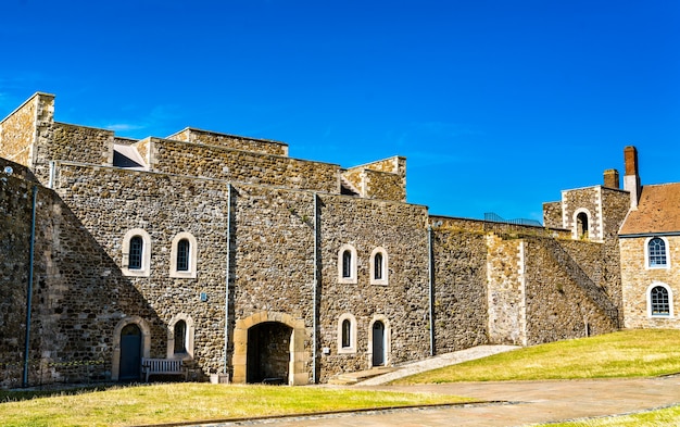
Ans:
[[[607,171],[563,191],[544,226],[432,216],[406,201],[400,156],[345,168],[193,128],[121,138],[55,122],[47,93],[0,122],[0,171],[2,387],[138,380],[141,357],[303,385],[679,326],[680,219],[658,206],[680,187],[642,187],[632,147],[624,189]]]

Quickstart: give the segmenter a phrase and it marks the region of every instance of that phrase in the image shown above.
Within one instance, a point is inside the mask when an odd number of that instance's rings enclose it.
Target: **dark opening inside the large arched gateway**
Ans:
[[[247,382],[288,384],[292,332],[277,322],[248,329]]]

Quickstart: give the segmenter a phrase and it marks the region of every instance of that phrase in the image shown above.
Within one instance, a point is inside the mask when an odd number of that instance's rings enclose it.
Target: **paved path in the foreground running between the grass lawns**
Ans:
[[[680,403],[680,377],[354,387],[368,390],[446,393],[488,401],[502,400],[507,403],[376,411],[373,413],[293,417],[276,420],[206,424],[204,426],[505,427],[642,412]]]

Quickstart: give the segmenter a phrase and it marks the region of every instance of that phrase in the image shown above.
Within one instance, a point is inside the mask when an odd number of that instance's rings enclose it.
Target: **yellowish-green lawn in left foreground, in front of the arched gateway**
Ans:
[[[2,397],[12,399],[7,392]],[[173,382],[5,401],[0,403],[0,424],[131,426],[463,401],[469,399],[322,387]]]

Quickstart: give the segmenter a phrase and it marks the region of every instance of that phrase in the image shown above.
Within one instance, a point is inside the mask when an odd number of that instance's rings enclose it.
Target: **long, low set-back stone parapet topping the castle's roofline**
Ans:
[[[245,138],[236,135],[226,135],[214,131],[186,128],[177,134],[171,135],[167,139],[176,141],[196,142],[205,146],[219,146],[234,150],[252,151],[261,154],[274,154],[288,156],[288,146],[284,142],[270,141],[266,139]]]

